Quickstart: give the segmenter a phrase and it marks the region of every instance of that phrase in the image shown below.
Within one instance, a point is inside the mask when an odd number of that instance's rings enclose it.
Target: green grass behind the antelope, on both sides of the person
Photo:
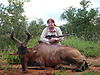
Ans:
[[[30,48],[30,47],[37,45],[38,40],[39,40],[39,37],[32,38],[28,42],[27,47]],[[65,37],[61,43],[62,43],[62,45],[67,45],[67,46],[71,46],[71,47],[78,49],[82,54],[84,54],[87,57],[100,56],[100,50],[99,50],[100,47],[99,47],[99,44],[96,42],[84,41],[77,37]],[[16,50],[17,50],[16,45],[11,48],[12,49],[10,51],[3,52],[2,58],[0,58],[0,59],[7,60],[8,63],[19,64],[20,61],[19,61],[18,56],[9,55],[9,53],[16,52]]]

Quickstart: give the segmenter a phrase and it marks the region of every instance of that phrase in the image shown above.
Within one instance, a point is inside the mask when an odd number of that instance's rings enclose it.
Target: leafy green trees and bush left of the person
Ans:
[[[8,49],[15,45],[9,37],[12,31],[14,36],[23,42],[26,39],[24,33],[26,29],[36,37],[40,36],[45,27],[41,18],[27,23],[27,18],[23,15],[23,5],[27,0],[8,0],[8,2],[8,6],[0,4],[0,49]]]

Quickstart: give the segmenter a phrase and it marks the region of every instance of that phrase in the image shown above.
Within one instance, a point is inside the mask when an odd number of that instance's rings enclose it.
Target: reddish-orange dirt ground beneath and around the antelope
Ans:
[[[27,73],[23,74],[21,71],[21,65],[11,65],[11,69],[0,70],[0,75],[73,75],[82,74],[85,72],[97,72],[100,75],[100,57],[88,58],[89,69],[84,72],[73,72],[71,69],[74,66],[64,66],[67,70],[54,70],[51,67],[46,67],[46,70],[40,70],[40,67],[28,67]],[[59,74],[57,74],[59,72]]]

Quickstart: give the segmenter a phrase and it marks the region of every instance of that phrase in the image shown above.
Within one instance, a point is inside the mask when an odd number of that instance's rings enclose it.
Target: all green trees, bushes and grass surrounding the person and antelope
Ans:
[[[26,38],[24,31],[28,30],[33,36],[28,47],[32,47],[38,44],[40,34],[46,27],[42,18],[27,22],[28,19],[23,14],[23,5],[27,0],[8,0],[8,2],[8,6],[0,4],[0,50],[8,50],[0,52],[0,69],[4,70],[8,67],[2,66],[3,61],[8,61],[7,65],[20,63],[18,56],[9,55],[17,50],[15,43],[9,38],[10,33],[14,31],[14,36],[24,41]],[[70,6],[63,11],[60,18],[65,20],[66,24],[60,28],[63,33],[69,35],[61,43],[77,48],[86,57],[100,57],[100,9],[90,8],[90,4],[90,1],[82,0],[80,2],[82,8]],[[94,74],[96,73],[86,75]]]

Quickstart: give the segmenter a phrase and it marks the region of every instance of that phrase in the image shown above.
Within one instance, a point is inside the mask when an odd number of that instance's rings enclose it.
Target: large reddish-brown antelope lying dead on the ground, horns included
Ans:
[[[31,64],[37,63],[38,66],[46,67],[51,66],[58,68],[60,64],[75,64],[79,69],[77,71],[84,71],[88,69],[86,58],[79,50],[62,45],[52,45],[46,43],[39,43],[32,48],[27,48],[26,45],[31,38],[29,32],[26,32],[27,39],[21,43],[11,34],[10,38],[17,44],[18,52],[20,56],[22,72],[26,72],[26,66],[30,62]]]

